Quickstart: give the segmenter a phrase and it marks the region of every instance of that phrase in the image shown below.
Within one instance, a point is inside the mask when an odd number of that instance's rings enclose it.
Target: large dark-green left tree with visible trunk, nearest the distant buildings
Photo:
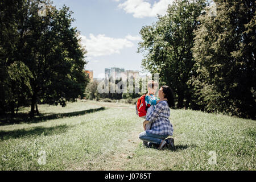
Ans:
[[[46,104],[65,106],[66,101],[84,97],[88,82],[83,72],[86,51],[79,43],[79,32],[71,27],[71,14],[66,6],[61,10],[53,7],[46,17],[31,20],[31,41],[38,40],[37,45],[27,47],[36,57],[27,63],[34,73],[31,116],[38,98]]]

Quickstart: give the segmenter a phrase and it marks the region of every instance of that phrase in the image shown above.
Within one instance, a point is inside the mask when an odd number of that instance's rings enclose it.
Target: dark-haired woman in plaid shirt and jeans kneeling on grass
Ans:
[[[166,143],[171,144],[171,146],[174,147],[173,138],[165,139],[174,132],[174,128],[169,121],[169,107],[174,106],[174,94],[169,86],[161,86],[158,92],[158,97],[162,101],[158,102],[154,111],[152,111],[152,113],[146,117],[146,121],[143,122],[144,130],[145,125],[152,122],[151,129],[139,134],[139,139],[159,144],[158,149],[161,150]]]

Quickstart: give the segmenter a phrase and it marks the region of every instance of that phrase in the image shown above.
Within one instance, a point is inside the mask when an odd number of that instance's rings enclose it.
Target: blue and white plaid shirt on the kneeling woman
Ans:
[[[151,129],[147,132],[158,135],[172,135],[174,128],[169,121],[169,117],[170,108],[167,101],[158,102],[154,111],[146,117],[146,121],[152,122]]]

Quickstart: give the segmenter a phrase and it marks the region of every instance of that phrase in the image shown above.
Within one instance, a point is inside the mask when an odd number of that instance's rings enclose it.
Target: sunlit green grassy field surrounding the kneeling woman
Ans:
[[[171,110],[175,148],[142,146],[135,106],[78,101],[0,119],[0,170],[255,170],[256,121]],[[45,158],[44,158],[45,157]],[[44,160],[46,159],[46,160]],[[215,160],[216,159],[216,160]]]

